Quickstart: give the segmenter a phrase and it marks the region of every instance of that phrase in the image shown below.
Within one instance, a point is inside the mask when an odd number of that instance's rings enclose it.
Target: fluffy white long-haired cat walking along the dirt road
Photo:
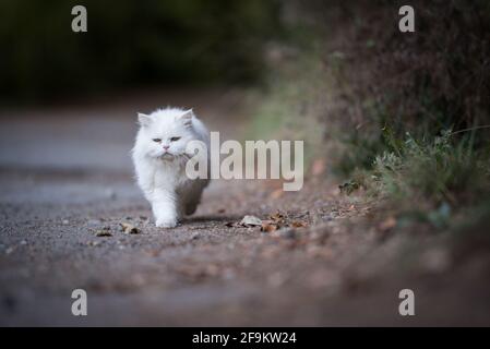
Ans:
[[[186,153],[187,144],[202,141],[210,149],[210,132],[192,109],[158,109],[139,113],[138,119],[140,131],[132,151],[138,184],[152,204],[156,226],[176,227],[184,214],[195,212],[208,184],[208,179],[186,176],[186,164],[194,156]]]

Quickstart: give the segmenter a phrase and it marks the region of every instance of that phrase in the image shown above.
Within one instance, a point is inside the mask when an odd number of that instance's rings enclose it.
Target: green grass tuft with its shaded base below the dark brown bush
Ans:
[[[456,137],[451,130],[419,140],[406,134],[356,178],[371,195],[389,200],[399,225],[422,221],[446,228],[463,208],[471,219],[471,207],[482,205],[490,193],[490,149],[476,151],[474,140],[474,134]]]

